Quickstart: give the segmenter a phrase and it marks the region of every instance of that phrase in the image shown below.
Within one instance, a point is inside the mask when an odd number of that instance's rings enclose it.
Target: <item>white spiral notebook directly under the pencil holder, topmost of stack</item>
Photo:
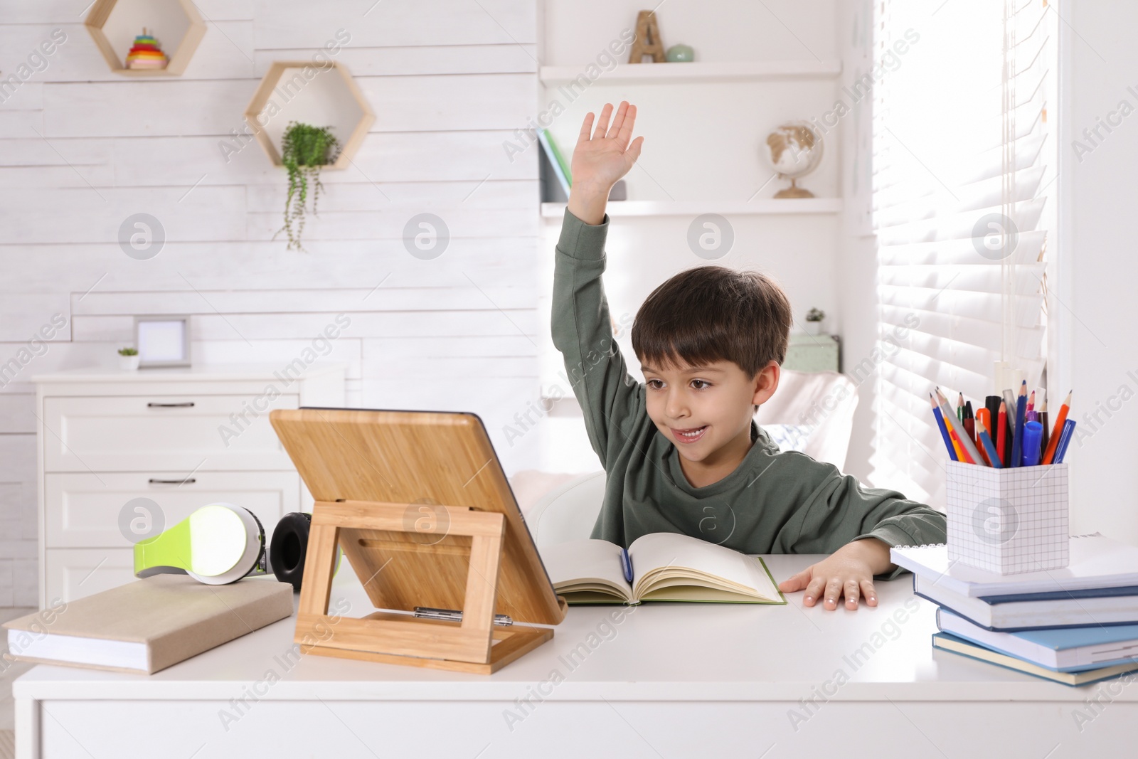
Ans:
[[[1000,575],[959,561],[950,566],[943,543],[894,546],[889,556],[914,575],[930,577],[938,586],[971,597],[1138,585],[1138,548],[1099,533],[1071,536],[1067,567],[1019,575]]]

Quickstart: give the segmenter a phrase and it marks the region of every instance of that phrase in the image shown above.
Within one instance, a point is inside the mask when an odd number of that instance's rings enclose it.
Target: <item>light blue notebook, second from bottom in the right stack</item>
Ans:
[[[949,609],[938,609],[937,627],[942,633],[1058,671],[1133,663],[1138,657],[1138,625],[993,633]]]

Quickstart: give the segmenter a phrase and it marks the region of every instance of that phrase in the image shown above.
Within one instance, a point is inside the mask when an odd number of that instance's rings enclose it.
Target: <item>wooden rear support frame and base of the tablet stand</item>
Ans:
[[[379,501],[316,501],[313,504],[296,643],[322,640],[333,625],[328,617],[328,599],[340,530],[414,531],[405,525],[410,506],[413,504]],[[307,653],[488,675],[553,637],[553,630],[545,627],[494,625],[505,517],[472,511],[470,506],[445,509],[450,513],[448,535],[464,535],[471,539],[462,621],[382,611],[362,619],[341,618],[335,622],[335,634],[307,649]],[[435,548],[446,553],[453,551],[451,546],[438,547],[438,544],[419,545],[428,552]],[[559,601],[564,603],[563,599]]]

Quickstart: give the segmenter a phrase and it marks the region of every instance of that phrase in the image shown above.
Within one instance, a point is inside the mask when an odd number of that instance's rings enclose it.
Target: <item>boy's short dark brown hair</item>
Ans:
[[[633,350],[652,366],[731,361],[754,377],[785,361],[792,321],[790,299],[766,274],[696,266],[648,296],[633,321]]]

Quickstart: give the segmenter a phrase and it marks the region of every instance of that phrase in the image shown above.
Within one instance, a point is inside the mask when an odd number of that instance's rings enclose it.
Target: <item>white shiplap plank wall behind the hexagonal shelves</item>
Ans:
[[[108,71],[86,2],[0,0],[0,79],[66,34],[0,102],[0,364],[67,320],[0,388],[0,607],[34,604],[30,378],[114,364],[134,314],[192,314],[195,363],[283,365],[346,313],[321,360],[351,364],[349,405],[475,411],[508,473],[534,465],[537,440],[502,428],[538,393],[537,152],[511,162],[502,143],[537,105],[536,1],[197,0],[207,31],[184,75],[145,80]],[[376,123],[353,166],[324,172],[308,253],[288,251],[271,240],[284,170],[255,143],[226,162],[220,142],[273,60],[338,30]],[[431,261],[402,240],[423,212],[452,238]],[[135,213],[165,229],[149,261],[117,242]]]

